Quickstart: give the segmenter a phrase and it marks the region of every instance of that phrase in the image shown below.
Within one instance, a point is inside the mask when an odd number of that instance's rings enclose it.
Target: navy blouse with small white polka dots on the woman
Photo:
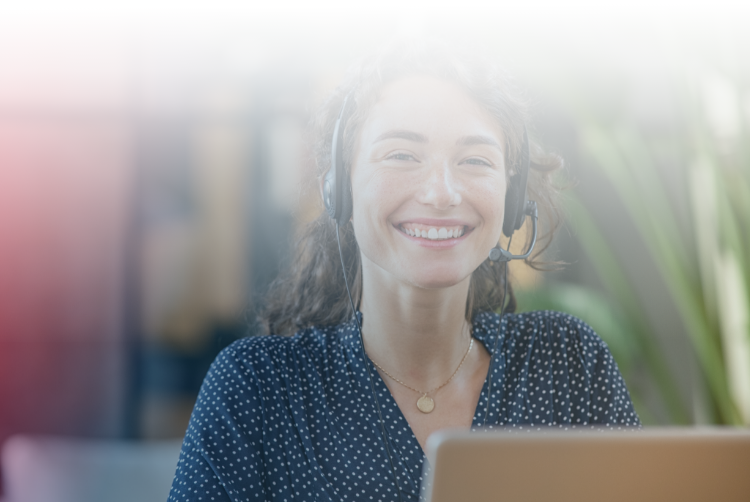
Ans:
[[[539,311],[477,315],[474,337],[492,352],[474,414],[482,426],[638,426],[605,343],[582,321]],[[399,496],[370,382],[383,411]],[[294,337],[242,339],[201,388],[170,501],[415,501],[425,456],[372,362],[354,319]]]

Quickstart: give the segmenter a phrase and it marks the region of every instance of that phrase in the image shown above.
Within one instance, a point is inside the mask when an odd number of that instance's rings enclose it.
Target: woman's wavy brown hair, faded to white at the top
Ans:
[[[360,127],[370,107],[379,99],[380,90],[387,83],[412,74],[430,75],[459,84],[497,120],[505,134],[506,165],[515,164],[520,155],[523,130],[528,124],[527,103],[502,68],[480,51],[459,51],[434,42],[400,42],[353,67],[315,115],[312,141],[318,177],[330,167],[333,129],[344,98],[350,96],[347,105],[350,115],[344,130],[344,164],[350,169]],[[528,197],[539,206],[541,235],[535,253],[526,263],[535,269],[546,269],[551,263],[542,261],[540,256],[560,223],[556,204],[558,191],[551,174],[562,167],[562,159],[545,154],[532,141],[530,167]],[[359,246],[351,222],[340,229],[340,237],[344,267],[356,302],[362,292],[362,276]],[[472,273],[466,302],[467,320],[471,321],[480,311],[501,308],[506,271],[502,263],[487,259]],[[503,312],[515,309],[515,296],[508,282],[508,300]],[[311,326],[340,324],[351,316],[335,224],[322,212],[302,230],[291,266],[271,284],[260,322],[267,333],[292,335]]]

